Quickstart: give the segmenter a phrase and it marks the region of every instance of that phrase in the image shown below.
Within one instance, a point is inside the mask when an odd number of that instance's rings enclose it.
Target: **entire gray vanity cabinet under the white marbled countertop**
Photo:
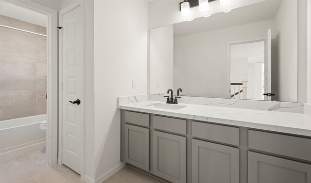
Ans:
[[[121,160],[169,182],[311,183],[311,137],[121,114]]]

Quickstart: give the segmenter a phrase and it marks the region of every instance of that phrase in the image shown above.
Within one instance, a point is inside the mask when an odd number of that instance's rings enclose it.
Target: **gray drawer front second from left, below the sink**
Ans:
[[[186,135],[187,120],[154,116],[154,128]]]

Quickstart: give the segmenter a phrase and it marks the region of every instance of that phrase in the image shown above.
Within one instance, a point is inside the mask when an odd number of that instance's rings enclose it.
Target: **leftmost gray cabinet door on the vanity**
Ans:
[[[149,171],[149,129],[124,125],[124,161]]]

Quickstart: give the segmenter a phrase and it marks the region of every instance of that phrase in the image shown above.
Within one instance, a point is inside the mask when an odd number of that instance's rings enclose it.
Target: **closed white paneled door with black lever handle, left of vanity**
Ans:
[[[62,162],[81,172],[83,133],[83,25],[81,6],[62,17],[63,146]],[[71,102],[80,100],[80,104]]]

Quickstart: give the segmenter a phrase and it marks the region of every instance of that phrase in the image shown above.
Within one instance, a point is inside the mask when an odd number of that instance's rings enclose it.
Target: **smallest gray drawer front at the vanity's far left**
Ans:
[[[124,117],[125,122],[149,127],[149,114],[125,111]]]

